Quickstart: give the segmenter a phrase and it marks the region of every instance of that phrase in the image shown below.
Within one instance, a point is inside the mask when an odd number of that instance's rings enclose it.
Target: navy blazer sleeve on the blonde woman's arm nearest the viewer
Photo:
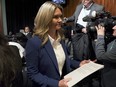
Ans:
[[[38,57],[40,54],[40,41],[28,40],[26,45],[26,64],[29,78],[41,87],[58,87],[58,80],[43,75],[38,70]]]

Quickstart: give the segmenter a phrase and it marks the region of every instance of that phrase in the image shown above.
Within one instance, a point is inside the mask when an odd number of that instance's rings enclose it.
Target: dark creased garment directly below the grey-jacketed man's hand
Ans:
[[[87,34],[77,33],[72,36],[73,56],[75,60],[82,61],[91,58],[89,44]]]

